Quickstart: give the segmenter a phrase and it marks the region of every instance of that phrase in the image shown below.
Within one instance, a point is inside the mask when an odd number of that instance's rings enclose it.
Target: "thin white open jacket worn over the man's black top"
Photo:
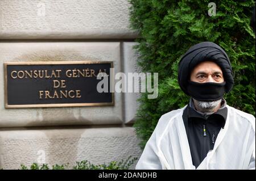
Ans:
[[[182,119],[185,107],[160,117],[136,169],[196,169]],[[255,169],[255,117],[226,107],[225,127],[197,169]]]

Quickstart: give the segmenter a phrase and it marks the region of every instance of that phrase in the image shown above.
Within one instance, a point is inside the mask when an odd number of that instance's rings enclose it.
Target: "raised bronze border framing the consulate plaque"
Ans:
[[[7,66],[8,65],[67,65],[67,64],[110,64],[113,67],[113,61],[51,61],[51,62],[4,62],[4,89],[5,89],[5,108],[46,108],[46,107],[87,107],[87,106],[114,106],[114,92],[112,93],[112,102],[106,103],[58,103],[58,104],[16,104],[9,105],[7,100]],[[110,74],[112,75],[112,74]],[[114,75],[110,77],[112,85],[114,83]],[[111,90],[111,87],[110,87]]]

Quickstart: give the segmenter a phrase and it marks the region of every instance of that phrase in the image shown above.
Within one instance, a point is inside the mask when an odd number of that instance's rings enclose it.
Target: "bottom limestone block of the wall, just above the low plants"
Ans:
[[[97,165],[140,155],[131,127],[0,131],[3,169],[20,169],[20,164],[34,162],[74,166],[76,161],[88,160]]]

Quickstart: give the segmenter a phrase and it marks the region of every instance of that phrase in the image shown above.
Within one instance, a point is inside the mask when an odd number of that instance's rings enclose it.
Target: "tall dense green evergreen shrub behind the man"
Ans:
[[[147,99],[134,124],[143,148],[161,115],[183,107],[189,97],[177,84],[177,64],[189,47],[212,41],[228,53],[234,71],[234,88],[225,95],[229,106],[255,115],[255,34],[250,27],[252,0],[214,1],[216,16],[208,15],[211,1],[130,0],[131,26],[138,31],[138,65],[158,72],[159,95]]]

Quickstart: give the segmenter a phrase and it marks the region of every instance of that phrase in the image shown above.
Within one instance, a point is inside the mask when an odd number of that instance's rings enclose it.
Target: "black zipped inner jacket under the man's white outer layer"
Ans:
[[[218,110],[210,116],[203,116],[189,105],[183,112],[183,121],[193,165],[197,168],[212,150],[220,132],[224,128],[228,109],[226,107]],[[204,131],[205,128],[205,131]]]

